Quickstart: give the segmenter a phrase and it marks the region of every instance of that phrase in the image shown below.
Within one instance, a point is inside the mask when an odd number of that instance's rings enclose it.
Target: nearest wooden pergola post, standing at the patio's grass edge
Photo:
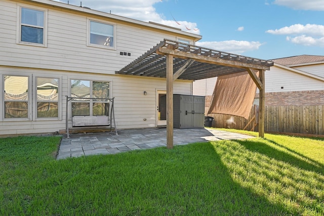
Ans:
[[[167,148],[173,148],[173,55],[167,55]]]

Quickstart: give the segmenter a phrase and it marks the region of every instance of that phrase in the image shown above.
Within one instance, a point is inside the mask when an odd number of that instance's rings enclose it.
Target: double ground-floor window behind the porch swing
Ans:
[[[109,115],[109,82],[71,79],[72,116]]]

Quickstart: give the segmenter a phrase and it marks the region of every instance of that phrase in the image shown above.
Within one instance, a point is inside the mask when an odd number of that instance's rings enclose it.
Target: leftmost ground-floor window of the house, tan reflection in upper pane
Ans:
[[[28,76],[4,75],[5,118],[28,118]]]

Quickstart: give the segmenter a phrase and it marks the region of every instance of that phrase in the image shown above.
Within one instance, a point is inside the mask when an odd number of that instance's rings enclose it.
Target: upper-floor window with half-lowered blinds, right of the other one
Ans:
[[[113,49],[114,31],[114,25],[89,20],[88,45]]]

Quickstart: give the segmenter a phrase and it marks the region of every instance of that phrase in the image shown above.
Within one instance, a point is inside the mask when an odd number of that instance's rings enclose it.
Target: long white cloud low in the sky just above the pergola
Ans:
[[[258,50],[262,44],[259,41],[225,40],[225,41],[206,41],[206,42],[197,41],[196,45],[200,47],[207,47],[213,50],[241,54],[247,51]]]

